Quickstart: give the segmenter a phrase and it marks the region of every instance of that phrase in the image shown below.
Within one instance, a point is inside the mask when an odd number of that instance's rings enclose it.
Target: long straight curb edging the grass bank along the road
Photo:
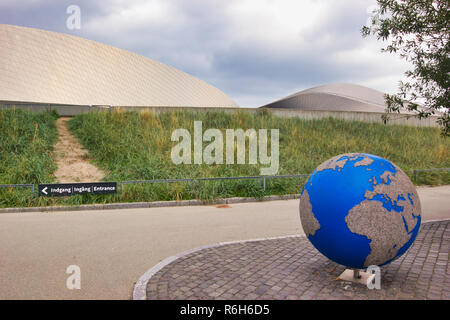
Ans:
[[[142,209],[142,208],[163,208],[163,207],[183,207],[183,206],[207,206],[215,204],[235,204],[277,200],[300,199],[300,194],[284,196],[266,196],[263,198],[226,198],[216,199],[210,202],[205,200],[181,200],[181,201],[153,201],[153,202],[130,202],[130,203],[106,203],[106,204],[85,204],[78,206],[51,206],[51,207],[29,207],[29,208],[3,208],[0,213],[21,213],[21,212],[58,212],[58,211],[84,211],[84,210],[113,210],[113,209]]]

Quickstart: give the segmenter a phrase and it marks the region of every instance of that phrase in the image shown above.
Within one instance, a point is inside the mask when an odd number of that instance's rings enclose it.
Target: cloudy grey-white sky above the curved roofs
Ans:
[[[333,82],[394,93],[408,65],[362,38],[375,0],[2,0],[0,23],[139,53],[258,107]],[[69,5],[81,28],[69,30]]]

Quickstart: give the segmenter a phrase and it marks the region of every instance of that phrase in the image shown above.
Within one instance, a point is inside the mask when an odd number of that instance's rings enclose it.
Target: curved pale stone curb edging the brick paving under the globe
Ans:
[[[270,238],[259,238],[259,239],[251,239],[251,240],[237,240],[237,241],[229,241],[229,242],[219,242],[215,244],[209,244],[201,247],[197,247],[194,249],[189,249],[186,251],[183,251],[177,255],[168,257],[164,260],[162,260],[160,263],[155,265],[153,268],[147,270],[144,275],[142,275],[139,280],[134,285],[133,289],[133,298],[132,300],[146,300],[147,299],[147,283],[150,281],[151,277],[153,277],[158,271],[160,271],[165,266],[171,264],[175,260],[178,260],[188,254],[198,252],[204,249],[211,249],[211,248],[217,248],[222,247],[226,245],[231,244],[238,244],[238,243],[248,243],[248,242],[258,242],[258,241],[265,241],[265,240],[278,240],[278,239],[288,239],[288,238],[305,238],[305,235],[302,234],[295,234],[290,236],[281,236],[281,237],[270,237]]]

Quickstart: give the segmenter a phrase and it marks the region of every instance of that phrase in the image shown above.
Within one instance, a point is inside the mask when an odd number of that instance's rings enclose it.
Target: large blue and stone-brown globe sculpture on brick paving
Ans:
[[[300,198],[300,219],[323,255],[352,269],[390,263],[414,242],[420,200],[408,176],[388,160],[342,154],[311,174]]]

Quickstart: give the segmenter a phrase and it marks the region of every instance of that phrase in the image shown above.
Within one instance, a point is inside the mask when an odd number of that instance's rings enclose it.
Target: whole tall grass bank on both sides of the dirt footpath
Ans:
[[[0,183],[52,182],[51,154],[57,138],[56,113],[0,111]],[[411,178],[412,169],[450,167],[450,139],[439,129],[382,125],[333,118],[302,120],[279,118],[261,111],[233,114],[177,111],[89,113],[69,121],[72,133],[89,150],[88,156],[107,176],[105,181],[168,178],[255,176],[259,165],[175,165],[170,154],[176,144],[172,131],[188,129],[194,121],[203,130],[279,129],[278,174],[311,173],[323,161],[346,152],[366,152],[399,165]],[[207,143],[205,143],[205,146]],[[135,202],[154,200],[262,197],[299,193],[305,179],[269,179],[266,190],[259,180],[201,181],[186,183],[124,185],[116,195],[77,195],[68,198],[31,197],[30,190],[0,189],[0,207]],[[450,184],[448,172],[422,173],[416,184]]]

